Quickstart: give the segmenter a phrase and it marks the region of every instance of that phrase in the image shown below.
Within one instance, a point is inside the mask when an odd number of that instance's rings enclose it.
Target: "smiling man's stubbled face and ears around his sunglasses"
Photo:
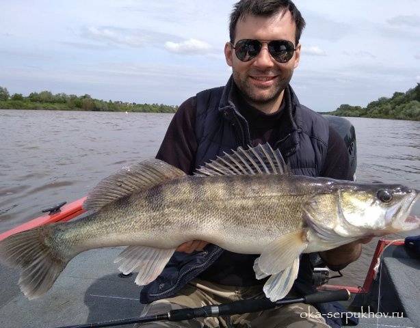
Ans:
[[[236,25],[234,44],[242,39],[289,40],[295,44],[296,24],[289,11],[272,17],[248,15]],[[275,102],[289,84],[293,69],[298,67],[300,44],[287,63],[279,63],[263,47],[257,57],[250,61],[240,61],[235,49],[228,42],[224,47],[226,62],[232,67],[233,79],[248,102],[267,104]]]

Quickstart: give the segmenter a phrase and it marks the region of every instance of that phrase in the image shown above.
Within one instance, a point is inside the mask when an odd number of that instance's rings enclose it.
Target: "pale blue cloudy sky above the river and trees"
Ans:
[[[181,105],[224,85],[230,0],[0,0],[0,86]],[[420,0],[296,0],[291,85],[315,111],[420,83]]]

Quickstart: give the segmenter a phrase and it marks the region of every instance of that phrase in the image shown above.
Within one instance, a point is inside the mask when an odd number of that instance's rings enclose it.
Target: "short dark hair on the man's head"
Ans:
[[[235,3],[229,23],[229,37],[231,42],[235,41],[235,29],[238,20],[244,19],[246,15],[270,17],[279,12],[289,12],[296,24],[296,44],[299,43],[300,36],[305,27],[305,20],[300,14],[296,5],[290,0],[241,0]]]

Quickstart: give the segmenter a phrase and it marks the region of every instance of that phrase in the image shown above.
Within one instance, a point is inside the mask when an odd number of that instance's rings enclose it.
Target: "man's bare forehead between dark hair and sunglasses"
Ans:
[[[236,25],[235,39],[254,38],[260,40],[295,40],[296,23],[289,10],[272,16],[245,14]]]

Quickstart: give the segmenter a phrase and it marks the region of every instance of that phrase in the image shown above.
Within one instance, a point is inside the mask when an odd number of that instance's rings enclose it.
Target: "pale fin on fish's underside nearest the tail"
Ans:
[[[118,269],[127,275],[135,269],[139,269],[139,274],[135,278],[137,285],[147,285],[153,282],[163,271],[175,249],[159,249],[146,246],[129,246],[114,260],[120,262]]]

